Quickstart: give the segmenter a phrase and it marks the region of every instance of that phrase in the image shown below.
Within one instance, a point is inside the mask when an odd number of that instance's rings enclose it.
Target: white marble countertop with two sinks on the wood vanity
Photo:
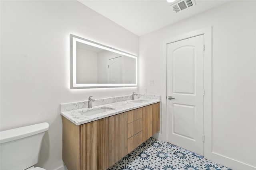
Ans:
[[[119,113],[123,113],[126,111],[130,111],[133,109],[137,109],[139,107],[148,106],[150,104],[158,103],[160,102],[160,96],[154,96],[154,98],[150,96],[141,96],[142,98],[138,98],[135,100],[125,100],[121,102],[114,102],[109,104],[102,104],[98,106],[92,106],[91,109],[88,108],[79,108],[79,109],[72,109],[69,111],[66,111],[65,109],[62,109],[61,115],[66,117],[68,120],[73,122],[76,125],[81,125],[84,123],[88,123],[91,121],[95,121],[98,119],[102,119],[104,117],[109,117],[112,115],[116,115]],[[128,98],[129,99],[129,98]],[[70,105],[70,104],[66,104]],[[74,104],[76,105],[76,104]],[[62,104],[62,106],[65,106],[65,104]],[[110,111],[102,112],[102,113],[96,113],[93,115],[86,115],[86,111],[93,111],[101,108],[108,108],[111,109]]]

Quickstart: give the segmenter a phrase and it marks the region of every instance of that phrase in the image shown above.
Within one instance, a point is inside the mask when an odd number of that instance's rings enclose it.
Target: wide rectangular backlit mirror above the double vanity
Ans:
[[[70,88],[137,86],[137,56],[70,34]]]

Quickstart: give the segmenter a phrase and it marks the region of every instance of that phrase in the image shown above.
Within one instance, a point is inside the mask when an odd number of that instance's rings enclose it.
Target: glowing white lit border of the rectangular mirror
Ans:
[[[77,84],[76,83],[76,42],[92,45],[101,49],[112,51],[120,55],[126,55],[136,59],[136,83],[134,84]],[[119,87],[136,87],[138,82],[138,59],[136,55],[70,34],[70,89],[82,88],[119,88]]]

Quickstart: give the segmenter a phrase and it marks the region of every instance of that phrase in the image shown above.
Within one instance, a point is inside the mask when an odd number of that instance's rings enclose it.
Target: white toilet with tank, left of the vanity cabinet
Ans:
[[[38,162],[42,138],[49,124],[39,123],[0,132],[0,170],[45,170]]]

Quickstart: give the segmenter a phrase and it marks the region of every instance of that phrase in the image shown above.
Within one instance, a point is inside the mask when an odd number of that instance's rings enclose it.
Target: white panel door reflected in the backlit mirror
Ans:
[[[123,59],[122,56],[108,60],[108,83],[123,83]]]

